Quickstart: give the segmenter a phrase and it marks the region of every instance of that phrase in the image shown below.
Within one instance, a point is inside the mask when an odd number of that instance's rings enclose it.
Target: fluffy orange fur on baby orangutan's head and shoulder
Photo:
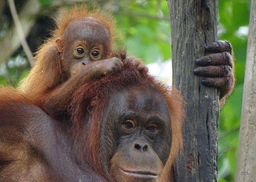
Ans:
[[[41,100],[46,93],[52,91],[55,87],[67,79],[62,65],[60,53],[56,46],[56,39],[61,38],[72,19],[79,17],[92,17],[98,19],[109,30],[111,44],[114,46],[115,21],[107,13],[100,13],[100,9],[89,11],[85,5],[73,6],[70,9],[63,9],[55,19],[56,28],[51,33],[51,37],[42,44],[35,56],[35,66],[24,78],[19,86],[19,90],[27,95],[31,95],[33,100]]]

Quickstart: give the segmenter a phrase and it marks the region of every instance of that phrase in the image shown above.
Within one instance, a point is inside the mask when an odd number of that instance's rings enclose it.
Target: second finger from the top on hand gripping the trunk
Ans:
[[[233,67],[231,61],[231,55],[228,52],[210,54],[208,56],[200,57],[196,60],[197,65],[209,66],[209,65],[228,65]]]

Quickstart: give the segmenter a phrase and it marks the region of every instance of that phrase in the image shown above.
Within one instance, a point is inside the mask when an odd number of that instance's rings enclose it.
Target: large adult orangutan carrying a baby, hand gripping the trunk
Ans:
[[[227,50],[223,45],[227,42],[213,43],[211,50]],[[231,68],[225,55],[197,62]],[[175,88],[130,61],[120,72],[81,85],[68,115],[56,119],[22,92],[2,88],[0,181],[173,181],[169,174],[182,149],[183,101]],[[217,81],[232,80],[232,70],[222,70],[207,80],[229,92],[231,82]],[[212,69],[207,73],[216,76]]]

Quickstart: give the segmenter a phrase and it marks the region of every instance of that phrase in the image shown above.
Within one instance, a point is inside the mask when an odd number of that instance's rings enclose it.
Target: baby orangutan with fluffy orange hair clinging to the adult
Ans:
[[[139,71],[147,67],[134,57],[114,57],[114,21],[85,6],[65,10],[57,28],[35,57],[35,66],[19,89],[52,115],[67,111],[70,98],[86,81],[118,72],[131,61]]]

